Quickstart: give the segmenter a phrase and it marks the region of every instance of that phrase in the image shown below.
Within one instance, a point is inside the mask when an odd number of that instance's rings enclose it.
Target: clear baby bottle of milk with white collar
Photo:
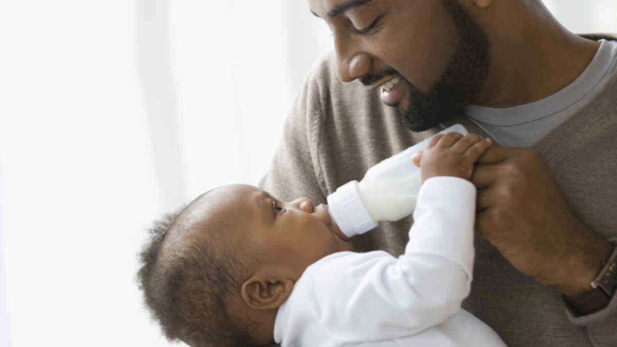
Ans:
[[[469,133],[456,124],[435,136],[450,132]],[[346,183],[328,196],[328,212],[347,237],[368,232],[379,220],[394,222],[412,214],[422,185],[420,168],[412,158],[428,147],[431,138],[384,159],[368,169],[360,182]]]

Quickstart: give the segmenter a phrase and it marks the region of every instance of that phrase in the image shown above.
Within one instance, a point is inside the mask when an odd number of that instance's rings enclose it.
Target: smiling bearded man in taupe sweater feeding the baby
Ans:
[[[482,237],[463,308],[508,346],[617,346],[617,36],[574,35],[540,0],[309,6],[336,54],[305,84],[262,187],[324,202],[452,123],[524,147],[476,166]],[[401,254],[412,222],[355,249]]]

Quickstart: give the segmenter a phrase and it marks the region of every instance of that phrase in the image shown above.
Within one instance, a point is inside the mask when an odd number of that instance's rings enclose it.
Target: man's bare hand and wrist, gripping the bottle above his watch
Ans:
[[[566,296],[591,290],[613,248],[574,215],[538,154],[492,146],[471,182],[479,189],[476,233],[510,264]]]

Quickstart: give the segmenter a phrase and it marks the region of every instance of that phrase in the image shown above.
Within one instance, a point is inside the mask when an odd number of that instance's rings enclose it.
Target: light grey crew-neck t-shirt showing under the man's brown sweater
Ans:
[[[617,41],[600,40],[587,69],[569,86],[529,104],[497,109],[468,106],[465,114],[503,146],[531,147],[593,101],[617,69]]]

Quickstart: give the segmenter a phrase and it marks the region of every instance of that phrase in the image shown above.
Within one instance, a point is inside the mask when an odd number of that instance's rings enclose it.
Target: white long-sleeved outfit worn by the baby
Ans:
[[[307,267],[281,305],[283,347],[499,346],[489,326],[461,309],[470,292],[476,188],[424,182],[405,254],[340,252]]]

